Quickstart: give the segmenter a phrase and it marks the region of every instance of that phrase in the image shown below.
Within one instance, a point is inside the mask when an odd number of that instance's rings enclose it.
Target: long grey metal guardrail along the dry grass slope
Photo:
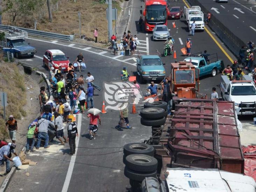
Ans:
[[[38,36],[43,36],[43,37],[65,40],[65,41],[73,41],[73,39],[74,39],[74,35],[62,35],[62,34],[58,34],[58,33],[39,31],[39,30],[34,30],[34,29],[22,28],[22,27],[16,27],[16,28],[27,31],[27,33],[30,35],[38,35]],[[0,25],[0,30],[8,31],[8,26]]]

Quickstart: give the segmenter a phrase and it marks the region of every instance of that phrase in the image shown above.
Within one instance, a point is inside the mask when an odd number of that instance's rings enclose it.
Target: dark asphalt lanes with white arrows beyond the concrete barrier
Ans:
[[[228,6],[225,6],[211,0],[198,1],[242,41],[248,42],[254,39],[256,16],[253,12],[236,3],[228,3]],[[224,6],[225,8],[223,8]],[[219,13],[216,13],[214,8],[217,8],[216,11]],[[245,33],[246,35],[244,35]]]

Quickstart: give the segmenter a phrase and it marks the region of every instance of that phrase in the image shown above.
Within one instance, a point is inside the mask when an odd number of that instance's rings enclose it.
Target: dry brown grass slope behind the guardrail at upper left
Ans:
[[[113,0],[113,5],[118,5],[120,2],[122,0],[116,0],[116,2]],[[84,34],[88,40],[94,40],[94,29],[98,28],[98,42],[105,43],[104,33],[108,31],[106,8],[107,4],[100,4],[98,0],[77,0],[77,2],[73,0],[62,0],[61,4],[59,1],[58,11],[52,12],[53,22],[49,22],[46,12],[45,17],[42,17],[41,20],[37,19],[37,29],[65,35],[79,34],[78,11],[80,11],[81,34]],[[10,15],[7,14],[4,13],[3,15],[3,24],[12,24],[8,19]],[[20,19],[15,24],[17,26],[33,28],[34,18],[37,18],[38,14],[31,15],[30,17],[25,21],[22,19],[22,16],[19,16]]]

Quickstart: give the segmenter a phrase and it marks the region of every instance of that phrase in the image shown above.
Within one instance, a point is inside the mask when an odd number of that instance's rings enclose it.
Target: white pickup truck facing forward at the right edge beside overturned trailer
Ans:
[[[221,76],[220,92],[225,101],[234,101],[237,115],[256,114],[256,88],[248,75],[244,80],[230,81],[227,76]]]

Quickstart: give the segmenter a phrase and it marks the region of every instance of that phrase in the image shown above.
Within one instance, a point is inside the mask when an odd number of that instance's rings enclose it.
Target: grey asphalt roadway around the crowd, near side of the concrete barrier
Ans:
[[[184,2],[172,2],[170,6],[184,7]],[[140,50],[142,53],[163,52],[163,41],[151,41],[152,34],[138,32],[136,23],[141,15],[140,10],[143,1],[133,0],[130,13],[130,22],[127,30],[130,30],[133,35],[137,35],[142,43]],[[176,23],[177,28],[172,28],[172,22]],[[218,59],[223,59],[225,66],[231,61],[216,45],[212,37],[207,31],[196,32],[195,36],[190,36],[186,28],[185,20],[168,20],[168,28],[175,39],[175,50],[177,59],[173,56],[161,57],[166,63],[166,74],[170,73],[170,63],[182,61],[185,57],[181,56],[180,49],[185,46],[186,38],[191,38],[192,53],[207,50],[209,54],[218,53]],[[210,35],[223,47],[227,54],[232,58],[228,49],[218,40],[214,32],[209,31]],[[179,40],[180,38],[180,40]],[[73,62],[76,56],[81,51],[85,57],[87,69],[78,73],[86,77],[88,71],[94,76],[96,85],[103,87],[104,82],[120,80],[120,71],[123,66],[128,67],[130,74],[136,71],[136,56],[113,56],[113,53],[102,51],[94,48],[88,48],[85,45],[75,44],[72,42],[63,42],[59,40],[49,40],[43,38],[30,37],[28,39],[31,45],[37,49],[36,57],[20,59],[22,62],[31,66],[37,67],[39,70],[48,73],[42,67],[42,56],[47,49],[60,49]],[[182,44],[183,43],[183,44]],[[207,93],[208,97],[211,94],[212,87],[217,87],[220,84],[220,74],[216,77],[204,77],[200,80],[200,92]],[[141,93],[145,92],[148,84],[141,85]],[[219,90],[219,89],[217,89]],[[103,92],[96,90],[94,96],[95,107],[101,109],[103,101]],[[137,106],[137,111],[140,112],[141,106]],[[129,106],[131,111],[131,105]],[[7,191],[65,191],[62,190],[66,186],[66,191],[102,191],[116,192],[126,191],[129,189],[129,179],[123,175],[124,165],[122,163],[122,146],[130,142],[142,142],[148,139],[151,135],[151,128],[140,124],[140,116],[137,114],[129,114],[130,126],[133,129],[123,129],[121,131],[115,129],[119,121],[119,112],[108,110],[106,114],[101,114],[102,125],[99,126],[96,140],[88,139],[88,118],[85,114],[81,115],[81,132],[79,138],[79,148],[74,162],[73,170],[69,170],[69,162],[71,157],[63,155],[62,152],[69,152],[68,148],[61,149],[61,154],[49,153],[44,155],[44,152],[35,152],[35,155],[29,156],[30,159],[38,162],[37,166],[30,166],[26,171],[17,171],[10,182]],[[55,141],[56,143],[56,141]],[[55,148],[53,145],[51,148]],[[58,151],[58,150],[57,150]],[[37,155],[39,154],[39,155]],[[24,176],[25,172],[29,172],[30,176]],[[70,182],[65,182],[66,176],[70,176]],[[26,179],[24,179],[26,177]]]

